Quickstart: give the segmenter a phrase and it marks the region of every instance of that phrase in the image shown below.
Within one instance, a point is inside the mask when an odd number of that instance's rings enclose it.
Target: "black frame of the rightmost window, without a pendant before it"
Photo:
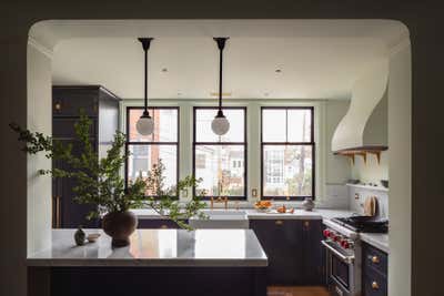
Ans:
[[[311,112],[311,131],[310,142],[264,142],[263,141],[263,111],[264,110],[310,110]],[[286,120],[287,125],[287,120]],[[286,126],[287,129],[287,126]],[[305,197],[311,197],[313,201],[316,197],[316,143],[314,141],[314,106],[261,106],[261,198],[275,201],[303,201]],[[265,145],[291,145],[291,146],[312,146],[312,195],[311,196],[268,196],[264,195],[264,146]]]

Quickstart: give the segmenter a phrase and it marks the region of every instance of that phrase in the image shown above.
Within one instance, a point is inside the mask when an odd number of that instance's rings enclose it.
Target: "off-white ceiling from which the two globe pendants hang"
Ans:
[[[124,99],[208,99],[218,90],[213,35],[229,35],[229,99],[350,99],[356,79],[405,39],[394,21],[89,21],[38,23],[31,37],[52,48],[54,84],[102,84]]]

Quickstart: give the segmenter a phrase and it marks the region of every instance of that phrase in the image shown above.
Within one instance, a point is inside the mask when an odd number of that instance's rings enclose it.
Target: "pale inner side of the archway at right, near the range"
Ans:
[[[393,296],[411,295],[412,274],[412,53],[405,43],[391,57],[389,79],[389,236],[395,251],[389,261],[389,294]]]

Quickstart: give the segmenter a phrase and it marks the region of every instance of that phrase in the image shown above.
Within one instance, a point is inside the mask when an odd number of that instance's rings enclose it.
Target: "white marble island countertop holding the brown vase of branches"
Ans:
[[[95,243],[74,244],[75,229],[53,229],[52,245],[27,259],[28,266],[266,266],[251,229],[137,229],[128,247],[112,248],[101,229]]]

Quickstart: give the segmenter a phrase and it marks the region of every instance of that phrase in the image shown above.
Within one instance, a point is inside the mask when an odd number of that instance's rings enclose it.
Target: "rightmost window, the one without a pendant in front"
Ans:
[[[313,108],[262,108],[262,196],[314,197]]]

